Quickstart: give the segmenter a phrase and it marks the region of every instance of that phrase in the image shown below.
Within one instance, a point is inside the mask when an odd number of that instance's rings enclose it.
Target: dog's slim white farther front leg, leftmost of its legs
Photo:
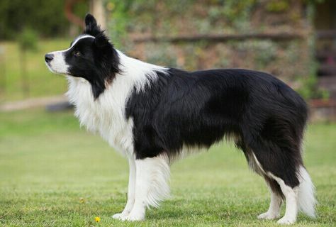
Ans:
[[[128,193],[127,193],[127,203],[125,208],[123,209],[123,212],[119,214],[114,214],[112,217],[116,219],[125,218],[125,216],[128,216],[130,214],[130,211],[133,209],[134,199],[135,199],[135,158],[133,155],[130,155],[128,157],[128,165],[130,167],[130,175],[128,179]]]

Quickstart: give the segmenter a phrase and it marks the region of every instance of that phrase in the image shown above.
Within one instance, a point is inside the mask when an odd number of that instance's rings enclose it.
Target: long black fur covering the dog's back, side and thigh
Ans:
[[[209,148],[233,134],[249,162],[252,151],[264,171],[291,187],[299,183],[307,113],[305,101],[284,82],[240,69],[158,72],[126,106],[138,159],[174,157],[183,145]],[[281,194],[279,184],[274,187]]]

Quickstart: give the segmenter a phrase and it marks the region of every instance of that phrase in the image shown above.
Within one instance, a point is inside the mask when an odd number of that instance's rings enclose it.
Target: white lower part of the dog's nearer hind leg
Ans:
[[[268,172],[267,175],[278,182],[281,191],[284,193],[286,198],[286,212],[285,215],[279,219],[278,223],[287,225],[295,223],[296,216],[298,216],[298,187],[291,188],[287,186],[284,180],[279,177],[275,177],[270,172]]]

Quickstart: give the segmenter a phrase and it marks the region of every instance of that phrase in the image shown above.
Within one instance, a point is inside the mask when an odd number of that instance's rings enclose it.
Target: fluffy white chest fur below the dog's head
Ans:
[[[94,100],[91,85],[82,78],[69,77],[69,101],[75,106],[75,116],[81,126],[99,133],[116,150],[126,155],[133,153],[133,121],[125,118],[127,94],[121,87],[111,86]],[[119,95],[117,95],[119,94]]]

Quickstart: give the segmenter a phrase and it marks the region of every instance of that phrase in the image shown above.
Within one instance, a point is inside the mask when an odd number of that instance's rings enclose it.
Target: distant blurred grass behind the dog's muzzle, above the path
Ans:
[[[52,74],[45,66],[44,55],[47,52],[67,49],[71,40],[40,40],[38,49],[27,52],[27,76],[30,95],[53,96],[63,94],[67,89],[64,77]],[[20,74],[20,50],[17,43],[0,43],[5,55],[0,56],[0,101],[26,99],[22,92]]]

